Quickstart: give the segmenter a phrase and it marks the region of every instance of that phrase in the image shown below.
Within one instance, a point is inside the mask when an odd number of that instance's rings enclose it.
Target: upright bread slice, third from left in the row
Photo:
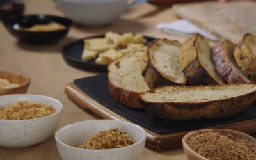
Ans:
[[[179,60],[182,71],[191,85],[224,84],[211,62],[208,42],[201,35],[193,35],[180,48]]]

